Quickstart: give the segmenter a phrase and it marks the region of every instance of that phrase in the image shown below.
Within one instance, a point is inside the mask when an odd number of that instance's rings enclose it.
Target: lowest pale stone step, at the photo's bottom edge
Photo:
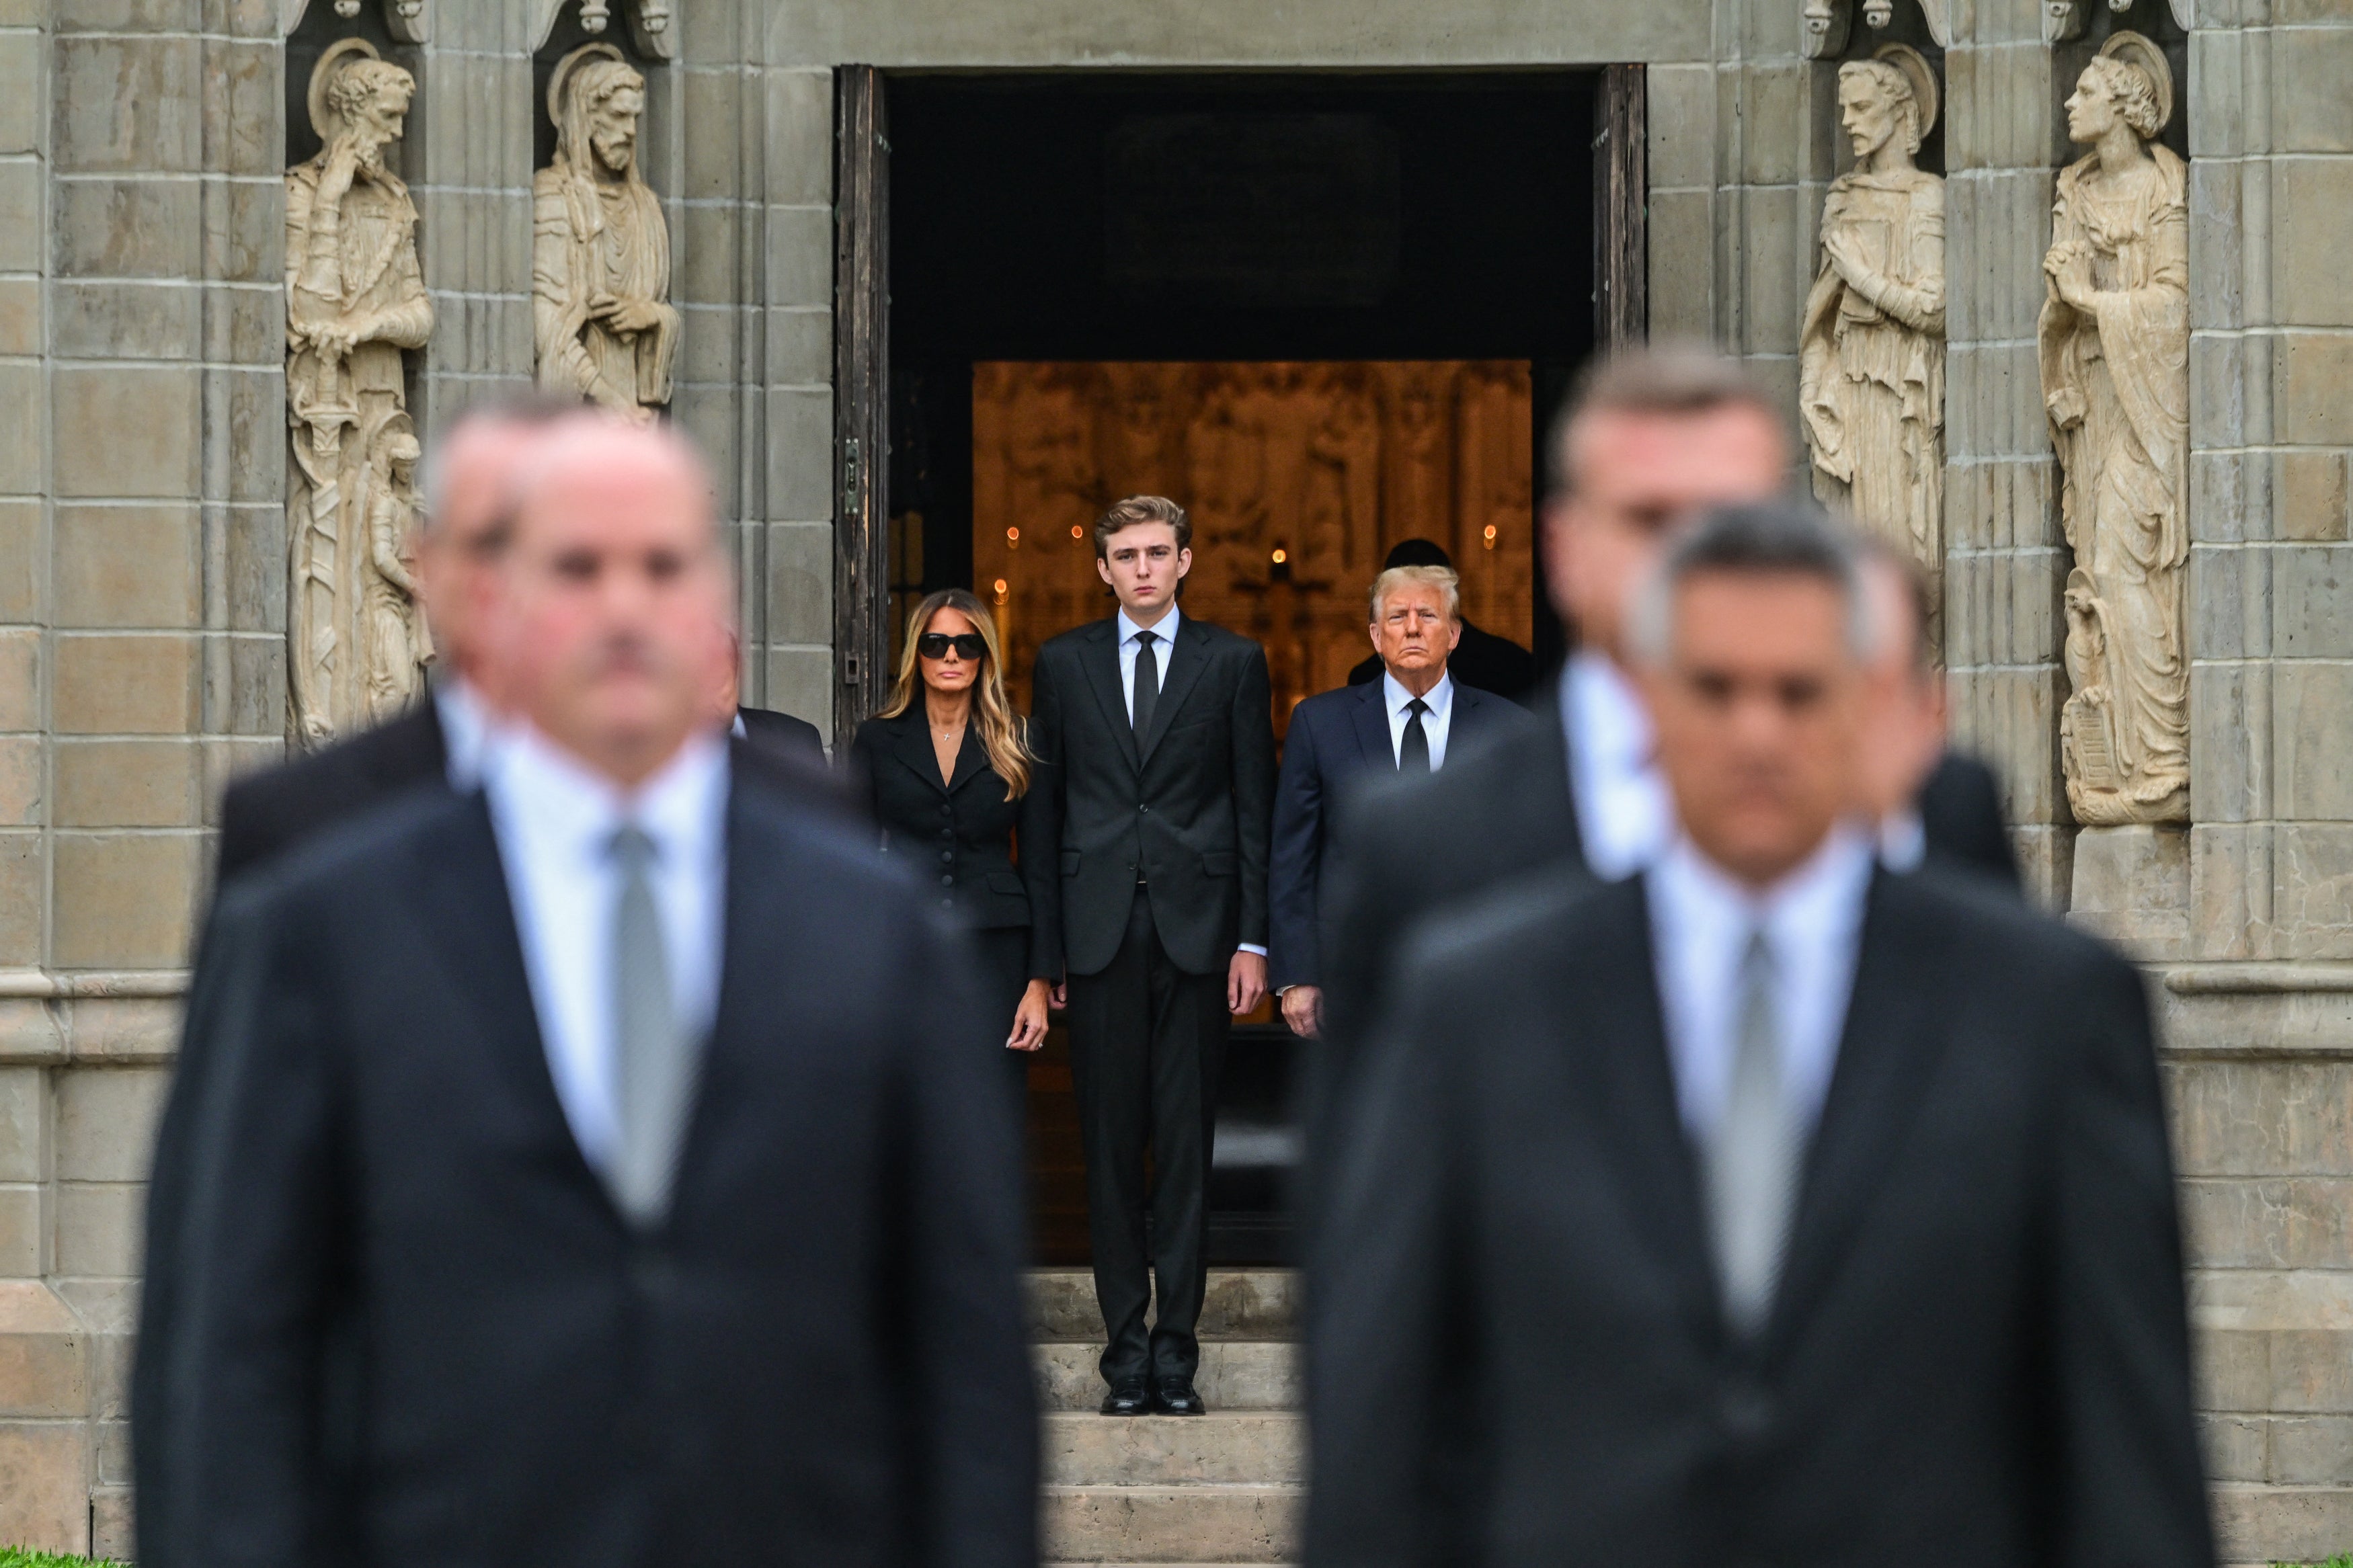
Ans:
[[[1299,1486],[1047,1486],[1049,1563],[1292,1563]]]

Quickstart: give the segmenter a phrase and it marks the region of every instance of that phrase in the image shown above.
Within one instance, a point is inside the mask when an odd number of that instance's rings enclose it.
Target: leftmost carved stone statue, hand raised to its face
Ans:
[[[311,73],[320,155],[287,172],[287,726],[318,745],[365,722],[376,451],[407,430],[402,353],[433,336],[416,207],[384,165],[416,80],[360,38]],[[414,440],[414,437],[409,437]]]

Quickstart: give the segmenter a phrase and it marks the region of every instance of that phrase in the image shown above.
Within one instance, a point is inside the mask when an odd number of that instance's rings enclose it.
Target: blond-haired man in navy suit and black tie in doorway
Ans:
[[[1534,726],[1522,708],[1454,682],[1468,630],[1452,567],[1388,567],[1372,581],[1369,616],[1381,679],[1292,708],[1275,783],[1268,969],[1282,1023],[1308,1039],[1322,1032],[1320,893],[1341,802],[1365,778],[1428,778],[1464,748]]]

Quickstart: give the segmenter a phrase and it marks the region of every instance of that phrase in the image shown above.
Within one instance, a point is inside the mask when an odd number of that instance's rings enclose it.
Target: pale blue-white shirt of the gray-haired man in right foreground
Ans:
[[[1871,851],[1866,832],[1840,825],[1765,893],[1727,877],[1680,835],[1649,867],[1645,891],[1666,1051],[1675,1067],[1675,1107],[1692,1138],[1706,1140],[1725,1114],[1741,961],[1758,931],[1772,954],[1781,1086],[1807,1126],[1821,1114],[1854,994]]]

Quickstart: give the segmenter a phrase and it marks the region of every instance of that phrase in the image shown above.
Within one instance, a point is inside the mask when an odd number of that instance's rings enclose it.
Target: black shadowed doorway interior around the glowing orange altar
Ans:
[[[972,588],[974,362],[1525,360],[1544,430],[1593,348],[1595,101],[1588,71],[892,75],[894,599]],[[1534,632],[1551,665],[1541,595]],[[1285,1260],[1299,1051],[1235,1030],[1217,1262]],[[1040,1260],[1085,1260],[1061,1030],[1031,1150]]]

